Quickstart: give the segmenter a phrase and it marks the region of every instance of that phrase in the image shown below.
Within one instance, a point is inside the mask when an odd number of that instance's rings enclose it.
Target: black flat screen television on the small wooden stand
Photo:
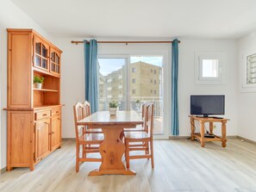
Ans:
[[[224,115],[225,96],[224,95],[201,95],[190,96],[190,115]]]

